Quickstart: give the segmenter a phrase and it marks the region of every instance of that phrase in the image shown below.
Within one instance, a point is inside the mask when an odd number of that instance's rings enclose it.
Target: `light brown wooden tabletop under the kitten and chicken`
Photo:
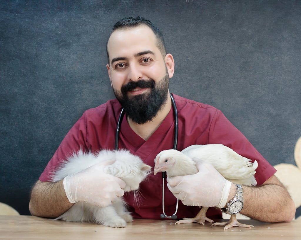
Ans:
[[[93,223],[53,221],[34,216],[0,216],[0,239],[301,239],[301,221],[263,223],[240,220],[254,228],[223,227],[205,223],[177,224],[173,220],[134,219],[125,228]]]

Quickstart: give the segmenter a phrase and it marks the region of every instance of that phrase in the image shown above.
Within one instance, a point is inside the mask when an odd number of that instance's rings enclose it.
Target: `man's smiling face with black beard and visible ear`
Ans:
[[[116,30],[107,47],[107,69],[116,98],[134,122],[151,121],[168,97],[172,56],[163,58],[156,36],[145,25]]]

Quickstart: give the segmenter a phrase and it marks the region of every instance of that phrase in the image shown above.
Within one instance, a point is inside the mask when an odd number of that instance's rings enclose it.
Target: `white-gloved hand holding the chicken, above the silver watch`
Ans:
[[[194,158],[198,173],[167,177],[167,187],[184,205],[225,207],[231,182],[226,180],[211,164]]]

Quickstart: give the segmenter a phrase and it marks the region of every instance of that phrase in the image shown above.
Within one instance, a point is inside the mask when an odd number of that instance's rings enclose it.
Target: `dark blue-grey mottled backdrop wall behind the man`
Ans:
[[[131,15],[165,35],[171,92],[222,110],[272,165],[295,164],[300,1],[62,2],[0,1],[0,202],[29,214],[31,186],[65,134],[114,98],[105,43]]]

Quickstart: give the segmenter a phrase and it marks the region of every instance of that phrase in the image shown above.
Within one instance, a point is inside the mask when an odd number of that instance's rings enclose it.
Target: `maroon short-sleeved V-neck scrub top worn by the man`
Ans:
[[[178,110],[178,150],[182,151],[194,144],[220,143],[233,149],[238,154],[256,160],[257,184],[261,185],[276,170],[259,154],[244,135],[237,130],[221,111],[216,108],[174,95]],[[85,111],[82,117],[67,133],[54,156],[48,162],[39,180],[51,181],[51,173],[66,159],[66,156],[83,149],[98,152],[101,149],[115,148],[115,134],[121,105],[114,99],[96,108]],[[174,143],[174,115],[171,108],[159,128],[144,141],[128,125],[126,116],[123,118],[119,134],[119,149],[128,149],[138,155],[145,164],[154,168],[156,155],[166,149],[172,149]],[[154,170],[154,169],[152,169]],[[162,213],[162,177],[161,174],[150,174],[139,188],[138,202],[131,192],[124,198],[128,210],[135,218],[160,219]],[[165,212],[171,215],[175,211],[176,199],[168,190],[165,181]],[[177,216],[195,217],[199,207],[185,206],[179,201]],[[207,217],[221,217],[221,211],[209,208]]]

